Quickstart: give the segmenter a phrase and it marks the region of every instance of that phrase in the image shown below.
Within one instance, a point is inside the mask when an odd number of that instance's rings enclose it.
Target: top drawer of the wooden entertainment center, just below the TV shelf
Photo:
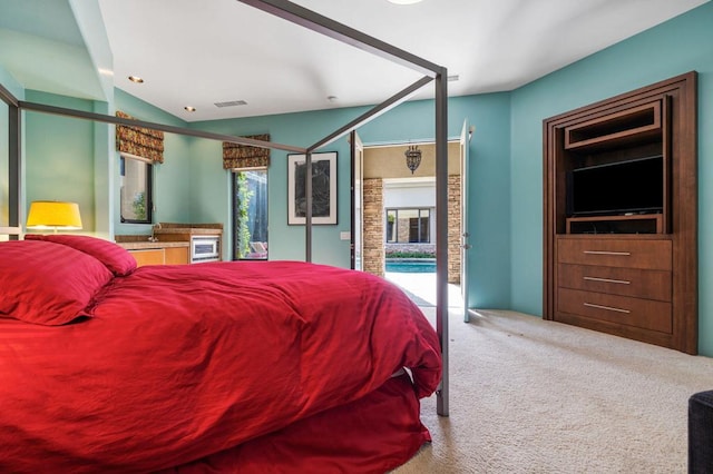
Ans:
[[[671,270],[671,240],[560,238],[557,244],[557,261]]]

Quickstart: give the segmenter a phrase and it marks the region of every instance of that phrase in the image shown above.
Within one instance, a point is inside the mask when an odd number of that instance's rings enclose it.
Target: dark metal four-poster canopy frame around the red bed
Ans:
[[[436,87],[436,260],[437,260],[437,333],[440,342],[442,355],[442,379],[437,391],[437,412],[441,416],[448,416],[449,403],[449,381],[448,381],[448,87],[447,68],[427,61],[404,50],[364,34],[353,28],[339,23],[314,11],[294,4],[286,0],[237,0],[242,3],[263,10],[275,17],[285,19],[295,24],[325,34],[338,41],[360,48],[381,58],[400,63],[424,77],[408,86],[400,92],[390,97],[382,103],[373,107],[360,117],[344,125],[323,139],[310,147],[302,148],[291,145],[262,141],[245,137],[213,134],[201,130],[193,130],[183,127],[167,126],[163,124],[148,122],[141,120],[130,120],[114,116],[95,112],[86,112],[60,107],[47,106],[43,103],[18,100],[7,88],[0,85],[0,99],[9,108],[9,226],[0,227],[0,234],[9,235],[10,239],[17,240],[22,235],[21,216],[23,215],[21,201],[21,112],[23,110],[55,113],[79,119],[94,120],[99,122],[125,125],[135,127],[153,128],[156,130],[179,134],[192,137],[207,138],[213,140],[228,141],[238,145],[284,150],[295,154],[304,154],[306,159],[305,176],[311,176],[312,154],[346,136],[360,126],[367,124],[381,113],[406,101],[413,92],[427,83],[434,81]],[[312,181],[305,179],[306,216],[305,216],[305,261],[312,260]]]

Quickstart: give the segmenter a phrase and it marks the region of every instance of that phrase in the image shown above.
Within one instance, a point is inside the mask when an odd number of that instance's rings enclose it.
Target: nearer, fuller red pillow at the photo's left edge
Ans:
[[[94,257],[38,240],[0,243],[0,316],[58,326],[79,316],[111,271]]]

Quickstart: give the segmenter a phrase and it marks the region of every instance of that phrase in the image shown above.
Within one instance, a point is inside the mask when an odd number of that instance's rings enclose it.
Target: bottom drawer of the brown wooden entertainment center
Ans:
[[[557,310],[671,334],[671,303],[559,288]]]

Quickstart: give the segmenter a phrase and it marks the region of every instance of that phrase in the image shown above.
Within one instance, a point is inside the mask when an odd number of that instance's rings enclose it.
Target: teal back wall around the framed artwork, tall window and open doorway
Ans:
[[[469,268],[473,285],[470,299],[479,307],[507,308],[510,305],[509,257],[509,95],[495,93],[452,98],[449,100],[448,136],[458,138],[468,119],[476,126],[470,142],[470,179],[478,198],[469,208],[473,229],[473,250]],[[245,136],[270,134],[279,144],[307,147],[342,125],[363,113],[367,108],[285,113],[247,119],[192,124],[212,132]],[[436,119],[432,100],[403,103],[363,126],[358,132],[369,146],[409,140],[432,140]],[[340,239],[350,231],[350,156],[342,138],[321,151],[338,152],[338,225],[313,228],[313,261],[349,267],[349,241]],[[222,169],[221,144],[196,139],[192,145],[192,216],[205,221],[231,219],[229,174]],[[287,152],[272,150],[268,170],[268,248],[271,259],[304,259],[304,227],[287,223]],[[229,226],[227,226],[229,228]],[[481,231],[478,231],[480,229]],[[229,241],[229,230],[227,231]],[[227,249],[225,249],[227,251]],[[225,255],[226,258],[229,254]]]

